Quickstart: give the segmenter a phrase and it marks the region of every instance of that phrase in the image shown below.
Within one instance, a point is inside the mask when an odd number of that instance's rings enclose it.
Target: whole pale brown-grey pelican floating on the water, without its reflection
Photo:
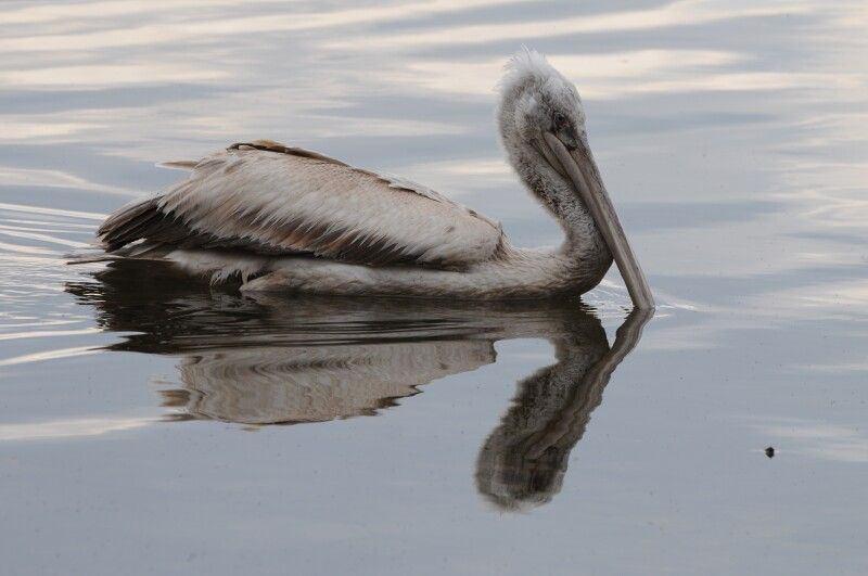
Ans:
[[[110,216],[110,258],[159,258],[244,292],[548,298],[596,286],[614,258],[634,305],[654,300],[603,185],[575,86],[541,54],[506,67],[497,111],[515,172],[558,220],[554,249],[423,185],[270,140],[233,144],[164,193]]]

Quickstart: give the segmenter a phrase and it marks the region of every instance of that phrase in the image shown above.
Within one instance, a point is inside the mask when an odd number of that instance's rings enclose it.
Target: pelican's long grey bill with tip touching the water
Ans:
[[[648,286],[648,281],[639,267],[639,263],[636,260],[636,255],[633,253],[629,242],[627,242],[627,235],[621,227],[615,207],[605,191],[600,170],[597,168],[597,163],[593,162],[593,155],[590,152],[587,140],[579,138],[578,145],[574,150],[567,150],[553,133],[545,132],[542,136],[545,144],[549,149],[546,152],[550,153],[547,153],[546,157],[549,158],[550,163],[552,158],[557,159],[557,163],[552,163],[552,168],[561,175],[565,174],[573,182],[597,228],[609,245],[609,251],[612,253],[617,269],[621,271],[622,278],[624,278],[624,283],[627,285],[633,305],[639,309],[654,308],[654,297],[651,295],[651,289]]]

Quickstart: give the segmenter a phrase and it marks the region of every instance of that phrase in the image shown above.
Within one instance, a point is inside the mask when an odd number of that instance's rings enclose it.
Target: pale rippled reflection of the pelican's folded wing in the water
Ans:
[[[323,422],[373,415],[421,384],[490,362],[489,353],[484,342],[221,348],[183,357],[184,389],[164,395],[199,419]]]

